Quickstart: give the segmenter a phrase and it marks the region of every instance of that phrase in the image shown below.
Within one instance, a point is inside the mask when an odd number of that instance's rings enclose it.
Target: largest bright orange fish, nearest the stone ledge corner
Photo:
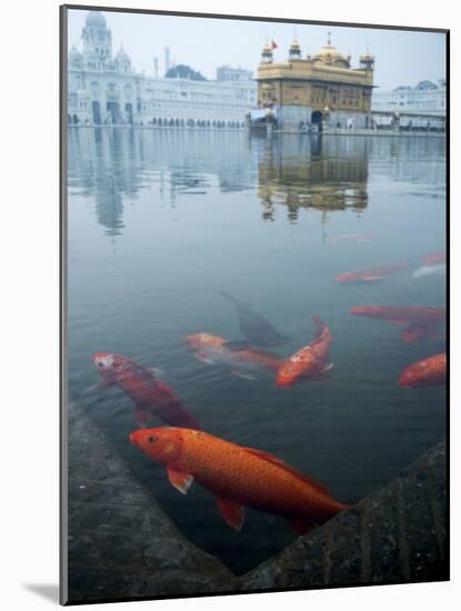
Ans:
[[[244,507],[283,515],[300,533],[347,509],[320,483],[277,457],[202,431],[139,429],[130,441],[164,464],[180,492],[186,494],[193,480],[212,492],[224,520],[239,531]]]

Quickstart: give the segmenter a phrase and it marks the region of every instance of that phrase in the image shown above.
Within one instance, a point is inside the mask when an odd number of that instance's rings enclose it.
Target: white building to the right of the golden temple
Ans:
[[[438,84],[421,81],[415,87],[398,87],[393,91],[375,89],[371,108],[372,111],[444,117],[447,114],[445,81],[440,80]]]

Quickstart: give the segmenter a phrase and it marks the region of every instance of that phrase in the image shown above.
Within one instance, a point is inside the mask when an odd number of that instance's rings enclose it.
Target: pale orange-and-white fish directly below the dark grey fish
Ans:
[[[261,370],[277,371],[282,359],[270,352],[248,348],[245,350],[231,350],[224,338],[211,333],[196,333],[186,338],[186,343],[197,349],[196,358],[208,364],[223,364],[229,367],[232,373],[245,379],[254,379]]]

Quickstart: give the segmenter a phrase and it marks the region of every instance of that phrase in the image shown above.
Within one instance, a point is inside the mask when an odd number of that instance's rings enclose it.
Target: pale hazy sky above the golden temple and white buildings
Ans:
[[[112,51],[123,43],[137,71],[153,74],[153,58],[164,72],[164,47],[170,47],[176,63],[187,63],[207,78],[216,77],[219,66],[245,67],[255,72],[261,49],[268,40],[279,46],[274,61],[285,61],[294,33],[302,56],[315,54],[331,31],[332,44],[352,56],[357,67],[367,49],[375,57],[374,83],[382,89],[400,84],[414,86],[421,80],[445,77],[445,36],[434,32],[409,32],[365,28],[333,28],[298,23],[239,21],[104,12],[112,31]],[[81,49],[81,29],[87,11],[69,10],[69,48]]]

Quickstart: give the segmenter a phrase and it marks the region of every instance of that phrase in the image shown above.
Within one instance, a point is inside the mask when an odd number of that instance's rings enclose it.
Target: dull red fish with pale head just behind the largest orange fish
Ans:
[[[154,370],[147,369],[136,361],[99,352],[93,362],[104,381],[100,388],[118,385],[134,403],[134,418],[146,425],[151,415],[157,415],[167,424],[201,429],[193,415],[184,410],[173,391],[162,382]]]

